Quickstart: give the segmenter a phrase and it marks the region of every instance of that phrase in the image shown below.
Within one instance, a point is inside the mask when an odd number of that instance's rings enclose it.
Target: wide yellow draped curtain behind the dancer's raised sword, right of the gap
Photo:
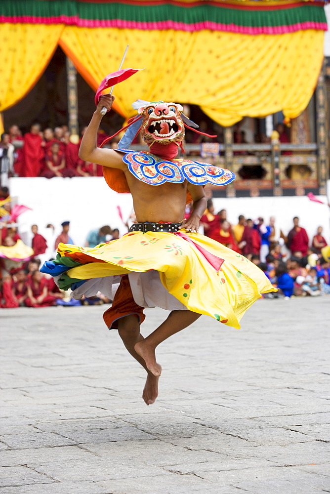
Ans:
[[[217,123],[232,125],[280,110],[297,117],[317,83],[323,36],[312,29],[250,36],[66,26],[60,44],[94,89],[117,70],[129,44],[124,66],[145,69],[115,87],[116,109],[126,118],[136,99],[161,99],[199,105]]]

